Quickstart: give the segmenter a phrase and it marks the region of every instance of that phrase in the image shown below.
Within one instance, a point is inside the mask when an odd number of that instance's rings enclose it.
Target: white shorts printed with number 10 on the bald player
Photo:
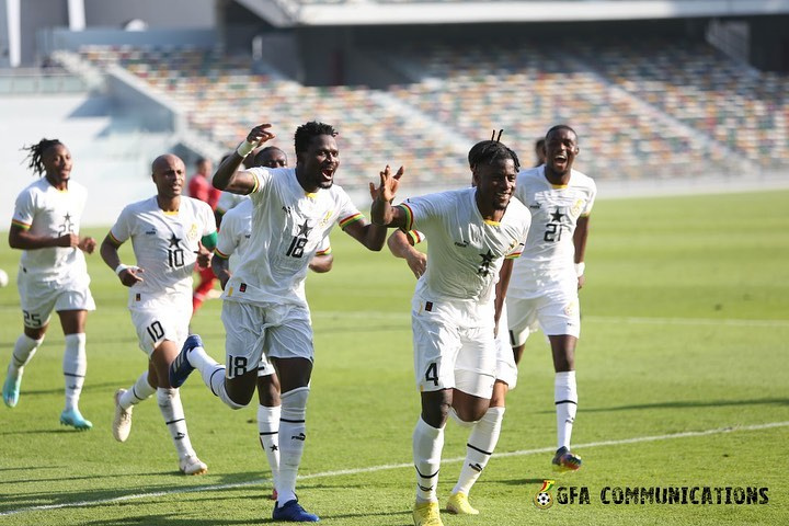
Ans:
[[[187,298],[188,299],[188,298]],[[173,299],[148,299],[129,307],[132,324],[137,331],[139,347],[150,357],[162,342],[170,341],[180,348],[188,335],[192,304]]]

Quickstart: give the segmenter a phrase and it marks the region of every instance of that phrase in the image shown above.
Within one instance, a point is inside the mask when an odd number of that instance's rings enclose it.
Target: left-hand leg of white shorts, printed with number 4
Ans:
[[[422,392],[455,387],[455,359],[461,345],[457,322],[414,310],[411,327],[416,387]]]

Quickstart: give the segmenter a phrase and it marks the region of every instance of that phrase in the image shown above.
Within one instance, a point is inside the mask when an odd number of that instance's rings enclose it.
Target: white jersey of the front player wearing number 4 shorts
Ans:
[[[521,255],[531,216],[511,199],[500,222],[482,218],[477,188],[428,194],[398,205],[409,216],[408,230],[430,239],[426,272],[416,282],[424,298],[492,302],[504,258]]]

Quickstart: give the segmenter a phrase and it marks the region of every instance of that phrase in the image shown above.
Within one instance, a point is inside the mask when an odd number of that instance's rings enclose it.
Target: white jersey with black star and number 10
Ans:
[[[117,244],[132,239],[142,282],[129,289],[135,296],[192,295],[192,272],[197,260],[197,243],[216,231],[214,213],[206,203],[181,196],[176,213],[165,213],[156,196],[126,206],[110,236]]]

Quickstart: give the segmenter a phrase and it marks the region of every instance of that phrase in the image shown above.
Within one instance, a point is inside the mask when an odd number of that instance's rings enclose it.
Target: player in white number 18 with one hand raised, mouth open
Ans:
[[[278,500],[272,516],[275,521],[317,522],[318,516],[305,511],[296,498],[313,358],[304,281],[309,262],[334,224],[375,251],[384,247],[386,228],[368,224],[347,194],[333,184],[340,152],[336,132],[328,124],[309,122],[296,129],[295,168],[237,171],[258,145],[274,137],[270,127],[252,128],[214,175],[217,187],[250,194],[253,205],[247,256],[222,294],[227,369],[205,353],[199,336],[192,335],[170,368],[170,378],[173,385],[181,385],[197,368],[211,392],[239,409],[254,393],[258,366],[265,355],[276,367],[282,388]]]

